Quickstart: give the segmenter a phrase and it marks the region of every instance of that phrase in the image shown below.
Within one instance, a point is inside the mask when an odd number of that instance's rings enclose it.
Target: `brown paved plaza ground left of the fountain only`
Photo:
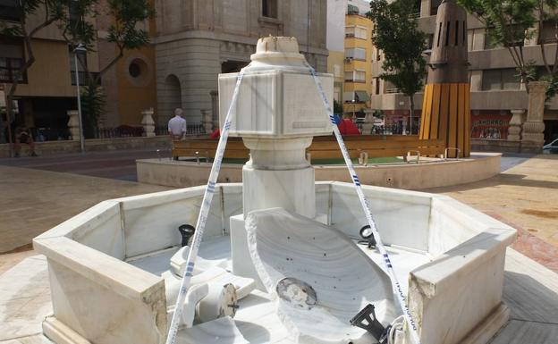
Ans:
[[[0,161],[0,254],[30,249],[31,239],[38,234],[108,198],[170,189],[112,179],[128,174],[126,167],[115,169],[114,165],[125,166],[129,158],[109,157],[92,159],[87,168],[80,158],[70,164],[69,170],[77,171],[72,173],[53,172],[68,168],[54,158],[34,159],[29,162],[32,166],[26,166],[30,168],[3,165],[14,164],[16,159]],[[76,174],[85,170],[101,174],[106,165],[111,165],[105,172],[111,179]],[[80,170],[76,170],[78,167]],[[0,269],[3,260],[0,256]]]

